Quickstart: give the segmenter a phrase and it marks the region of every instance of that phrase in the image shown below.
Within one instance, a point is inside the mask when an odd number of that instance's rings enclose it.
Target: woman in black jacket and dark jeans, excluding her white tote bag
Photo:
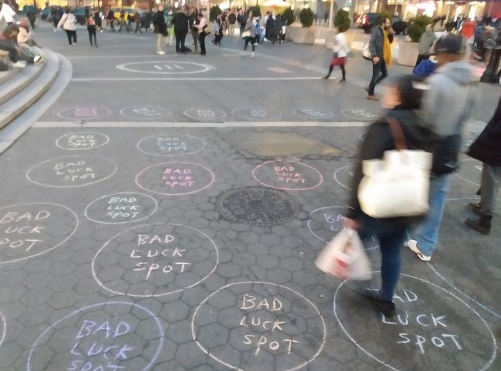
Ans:
[[[399,142],[404,142],[408,150],[432,152],[433,134],[421,126],[416,113],[420,109],[424,89],[426,86],[411,75],[394,79],[385,87],[382,105],[388,111],[385,117],[369,127],[367,136],[360,145],[360,155],[351,187],[353,189],[351,201],[348,204],[351,209],[347,214],[345,227],[358,230],[363,239],[371,235],[379,239],[381,290],[377,294],[367,287],[361,293],[387,317],[395,315],[396,311],[392,299],[400,274],[400,248],[409,226],[419,221],[421,217],[419,215],[385,218],[369,216],[360,206],[359,186],[363,180],[364,182],[367,180],[367,174],[364,177],[363,172],[364,170],[367,172],[367,160],[383,159],[385,152],[399,149]],[[431,157],[429,162],[431,166]],[[385,201],[391,204],[392,198]]]

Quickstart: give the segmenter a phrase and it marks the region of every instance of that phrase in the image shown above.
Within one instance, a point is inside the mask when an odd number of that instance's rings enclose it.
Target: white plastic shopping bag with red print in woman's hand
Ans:
[[[370,280],[372,269],[356,230],[343,228],[321,251],[315,265],[337,278]]]

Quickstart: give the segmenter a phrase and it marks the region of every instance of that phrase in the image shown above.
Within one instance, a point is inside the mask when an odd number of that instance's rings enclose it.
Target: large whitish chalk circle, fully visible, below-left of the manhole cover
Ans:
[[[109,239],[92,261],[95,281],[129,297],[164,297],[199,285],[218,265],[219,252],[204,232],[180,224],[147,224]]]

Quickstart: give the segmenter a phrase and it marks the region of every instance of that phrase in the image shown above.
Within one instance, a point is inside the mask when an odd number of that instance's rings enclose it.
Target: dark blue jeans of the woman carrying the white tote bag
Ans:
[[[363,216],[360,219],[360,238],[376,236],[381,250],[381,290],[379,297],[393,301],[393,294],[400,276],[400,248],[407,234],[404,223],[393,223],[385,219],[373,219]]]

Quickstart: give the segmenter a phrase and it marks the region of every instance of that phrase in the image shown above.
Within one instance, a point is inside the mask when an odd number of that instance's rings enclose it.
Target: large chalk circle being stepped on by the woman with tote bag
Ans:
[[[418,283],[409,285],[410,278]],[[346,282],[334,294],[337,323],[358,349],[390,370],[408,370],[409,365],[424,370],[433,359],[436,370],[484,371],[495,360],[497,342],[485,319],[445,288],[400,274],[401,290],[393,299],[398,316],[385,318],[372,315],[367,299],[353,299],[356,294],[351,290],[344,290],[349,296],[343,301],[341,289]]]

